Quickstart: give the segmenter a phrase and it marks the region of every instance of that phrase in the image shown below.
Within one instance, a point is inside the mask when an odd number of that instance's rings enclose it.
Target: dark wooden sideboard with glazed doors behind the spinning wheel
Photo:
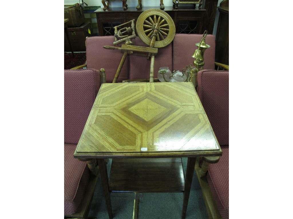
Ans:
[[[114,28],[117,25],[126,23],[130,20],[137,20],[139,15],[150,8],[160,7],[142,7],[141,10],[136,8],[127,8],[123,11],[122,8],[109,8],[109,10],[103,11],[102,8],[94,11],[97,16],[99,36],[113,36]],[[194,9],[194,7],[180,6],[178,9],[173,7],[166,7],[164,10],[173,19],[176,33],[184,34],[202,34],[203,19],[206,16],[205,9]]]

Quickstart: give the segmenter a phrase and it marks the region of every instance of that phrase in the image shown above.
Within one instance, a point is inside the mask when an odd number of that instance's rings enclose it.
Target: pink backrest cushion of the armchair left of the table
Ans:
[[[77,144],[98,94],[99,71],[64,70],[64,143]]]

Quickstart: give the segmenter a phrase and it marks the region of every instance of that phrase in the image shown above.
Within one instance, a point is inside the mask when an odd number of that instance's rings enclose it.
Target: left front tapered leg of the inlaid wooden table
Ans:
[[[103,186],[103,191],[105,195],[106,205],[108,209],[109,218],[112,219],[112,205],[111,205],[111,198],[110,198],[110,190],[109,190],[109,181],[108,181],[108,173],[107,173],[107,166],[104,159],[97,159],[99,165],[99,171]]]

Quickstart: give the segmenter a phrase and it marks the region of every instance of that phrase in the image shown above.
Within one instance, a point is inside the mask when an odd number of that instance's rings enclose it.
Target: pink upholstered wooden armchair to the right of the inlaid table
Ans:
[[[229,71],[202,70],[197,93],[223,154],[198,160],[195,166],[209,218],[229,218]]]

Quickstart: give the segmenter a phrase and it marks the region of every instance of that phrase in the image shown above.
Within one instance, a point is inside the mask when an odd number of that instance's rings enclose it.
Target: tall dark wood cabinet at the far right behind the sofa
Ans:
[[[222,1],[218,10],[215,61],[229,65],[229,0]]]

